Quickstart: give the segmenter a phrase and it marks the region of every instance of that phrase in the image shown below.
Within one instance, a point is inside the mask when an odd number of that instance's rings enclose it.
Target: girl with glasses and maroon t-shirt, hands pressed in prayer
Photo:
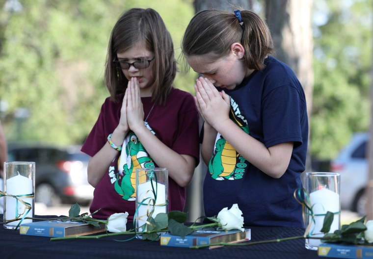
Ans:
[[[110,98],[82,151],[91,156],[93,217],[135,213],[135,169],[166,167],[170,210],[183,211],[186,185],[199,162],[198,110],[175,89],[171,36],[153,9],[125,12],[112,29],[105,79]]]

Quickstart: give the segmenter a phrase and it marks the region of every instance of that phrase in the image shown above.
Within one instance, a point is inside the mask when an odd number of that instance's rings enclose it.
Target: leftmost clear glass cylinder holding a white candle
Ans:
[[[34,217],[35,162],[4,162],[4,192],[4,220]],[[22,223],[28,222],[32,219],[22,220]],[[15,229],[19,223],[17,220],[3,226]]]

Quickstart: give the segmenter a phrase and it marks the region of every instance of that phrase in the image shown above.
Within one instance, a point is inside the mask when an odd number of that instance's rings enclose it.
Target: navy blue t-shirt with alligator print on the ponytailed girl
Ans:
[[[292,69],[274,57],[233,90],[230,117],[266,147],[294,142],[290,164],[274,179],[249,163],[218,133],[204,181],[205,213],[211,217],[237,203],[245,225],[303,227],[302,207],[293,197],[302,187],[308,119],[303,88]]]

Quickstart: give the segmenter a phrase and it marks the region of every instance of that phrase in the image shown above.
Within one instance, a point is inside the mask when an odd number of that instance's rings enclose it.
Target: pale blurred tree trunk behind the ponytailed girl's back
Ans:
[[[276,49],[275,56],[293,69],[302,84],[306,94],[308,120],[311,122],[314,86],[312,0],[265,0],[265,3],[266,22],[272,33]],[[311,123],[309,123],[309,126],[311,126]],[[309,140],[309,146],[310,143]],[[311,155],[308,152],[306,171],[310,169]]]

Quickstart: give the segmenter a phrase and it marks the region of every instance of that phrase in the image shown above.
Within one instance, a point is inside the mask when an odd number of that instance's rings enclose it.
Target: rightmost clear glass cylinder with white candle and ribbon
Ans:
[[[308,193],[312,211],[306,208],[305,227],[311,224],[309,233],[312,237],[322,237],[322,226],[326,212],[334,213],[329,233],[341,227],[341,198],[339,173],[306,173],[305,189]],[[314,220],[312,220],[312,215]],[[321,244],[320,239],[306,238],[306,248],[317,250]]]

